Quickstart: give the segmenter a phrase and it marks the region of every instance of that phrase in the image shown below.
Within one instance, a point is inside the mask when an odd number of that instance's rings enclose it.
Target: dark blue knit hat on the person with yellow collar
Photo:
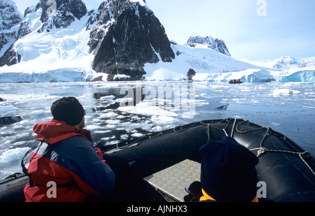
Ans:
[[[258,157],[234,138],[200,147],[201,185],[216,201],[251,202],[257,193]]]

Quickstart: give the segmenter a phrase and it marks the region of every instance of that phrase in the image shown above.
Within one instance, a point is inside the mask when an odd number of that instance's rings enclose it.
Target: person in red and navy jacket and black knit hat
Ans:
[[[50,109],[53,119],[34,126],[36,139],[49,143],[49,148],[43,155],[31,155],[27,171],[30,181],[24,190],[26,201],[103,199],[113,189],[115,174],[102,152],[93,147],[90,131],[83,129],[83,106],[74,97],[64,97],[52,103]]]

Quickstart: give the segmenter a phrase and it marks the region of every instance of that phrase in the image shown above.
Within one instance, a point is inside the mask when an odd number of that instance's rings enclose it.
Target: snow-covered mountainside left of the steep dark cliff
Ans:
[[[10,0],[8,0],[10,1]],[[56,1],[57,10],[46,17],[41,0],[25,10],[18,38],[0,57],[0,82],[82,81],[90,78],[90,15],[80,1]],[[73,4],[75,2],[75,4]]]

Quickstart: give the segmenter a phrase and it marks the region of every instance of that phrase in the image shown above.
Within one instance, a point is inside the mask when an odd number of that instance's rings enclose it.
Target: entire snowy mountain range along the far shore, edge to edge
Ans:
[[[15,8],[3,24],[10,29],[0,30],[13,35],[0,52],[0,82],[181,80],[189,69],[197,73],[193,80],[265,82],[282,80],[290,62],[239,61],[210,36],[190,37],[186,45],[169,41],[144,0],[106,0],[91,11],[81,0],[56,0],[55,6],[40,0],[23,18],[12,0],[0,2],[3,11]]]

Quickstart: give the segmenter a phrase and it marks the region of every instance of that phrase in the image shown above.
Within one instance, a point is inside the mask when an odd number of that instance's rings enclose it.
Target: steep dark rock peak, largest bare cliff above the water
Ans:
[[[90,34],[93,69],[130,80],[144,78],[144,64],[172,62],[174,52],[165,29],[145,1],[105,1],[99,8],[99,20]]]

